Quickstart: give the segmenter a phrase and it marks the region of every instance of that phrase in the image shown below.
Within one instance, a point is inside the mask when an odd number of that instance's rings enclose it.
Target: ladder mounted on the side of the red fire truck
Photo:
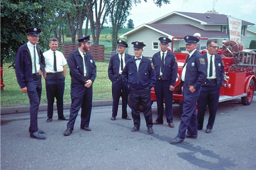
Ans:
[[[256,66],[256,53],[239,51],[240,58],[238,59],[238,65],[240,66]]]

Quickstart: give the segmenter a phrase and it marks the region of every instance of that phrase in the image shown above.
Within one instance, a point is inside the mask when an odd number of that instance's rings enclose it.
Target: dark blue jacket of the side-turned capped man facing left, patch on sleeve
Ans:
[[[192,54],[192,56],[187,60],[185,82],[181,80],[181,83],[191,85],[195,89],[198,89],[206,81],[206,77],[207,67],[205,66],[205,60],[196,50]]]

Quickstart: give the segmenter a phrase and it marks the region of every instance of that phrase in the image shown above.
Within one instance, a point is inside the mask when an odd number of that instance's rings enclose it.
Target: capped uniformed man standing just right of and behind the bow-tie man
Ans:
[[[152,62],[156,71],[155,94],[157,102],[157,119],[153,125],[163,124],[164,103],[165,115],[168,126],[173,128],[172,98],[173,90],[178,72],[177,59],[173,53],[167,50],[171,40],[167,37],[160,37],[161,51],[155,53]]]

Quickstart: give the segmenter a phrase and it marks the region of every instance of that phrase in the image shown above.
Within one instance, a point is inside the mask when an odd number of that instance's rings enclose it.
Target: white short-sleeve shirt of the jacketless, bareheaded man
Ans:
[[[43,56],[45,58],[45,72],[55,72],[54,71],[54,52],[56,56],[56,66],[57,66],[57,71],[56,72],[63,72],[63,66],[67,64],[67,61],[60,51],[53,51],[53,50],[48,50],[43,53]]]

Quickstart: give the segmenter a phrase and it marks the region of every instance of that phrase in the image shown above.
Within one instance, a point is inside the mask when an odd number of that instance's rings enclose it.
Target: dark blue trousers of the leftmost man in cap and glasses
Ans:
[[[37,112],[42,93],[42,76],[36,73],[32,78],[32,82],[26,82],[26,87],[30,103],[30,129],[31,132],[36,132],[38,130]]]

